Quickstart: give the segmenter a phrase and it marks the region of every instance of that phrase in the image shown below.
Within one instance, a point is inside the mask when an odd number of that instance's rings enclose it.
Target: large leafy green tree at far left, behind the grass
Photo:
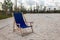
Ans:
[[[2,8],[6,12],[6,15],[8,11],[9,11],[8,13],[12,11],[12,6],[13,6],[13,3],[11,2],[11,0],[4,0]]]

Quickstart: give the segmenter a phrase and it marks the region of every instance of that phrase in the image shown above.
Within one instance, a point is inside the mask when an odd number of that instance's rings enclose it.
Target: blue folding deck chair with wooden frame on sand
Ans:
[[[28,28],[28,27],[31,27],[32,29],[32,32],[33,32],[33,28],[32,28],[32,23],[33,22],[29,22],[30,23],[30,26],[28,26],[24,21],[24,18],[23,18],[23,14],[21,12],[14,12],[14,24],[13,24],[13,31],[15,31],[15,24],[17,26],[17,30],[21,32],[21,35],[23,35],[22,33],[22,29],[25,29],[25,28]]]

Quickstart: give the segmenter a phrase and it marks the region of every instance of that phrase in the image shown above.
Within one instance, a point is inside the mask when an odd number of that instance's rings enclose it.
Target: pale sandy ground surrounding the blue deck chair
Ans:
[[[25,14],[24,17],[27,22],[34,22],[34,33],[22,37],[13,32],[12,17],[0,20],[0,40],[60,40],[60,14]]]

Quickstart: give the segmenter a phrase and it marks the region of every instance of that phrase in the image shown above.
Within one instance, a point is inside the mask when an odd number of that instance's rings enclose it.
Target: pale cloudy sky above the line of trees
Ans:
[[[0,2],[3,3],[4,0],[1,0]],[[15,0],[11,0],[13,4],[15,5]],[[42,5],[47,7],[59,7],[60,6],[60,0],[17,0],[17,5],[20,6],[20,3],[23,3],[23,5],[27,8],[30,6],[35,5]]]

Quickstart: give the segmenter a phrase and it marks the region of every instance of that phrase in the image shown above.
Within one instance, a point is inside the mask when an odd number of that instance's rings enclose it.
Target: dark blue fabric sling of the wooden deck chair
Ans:
[[[27,27],[21,12],[14,12],[14,18],[15,18],[16,24],[20,24],[21,28],[26,28]]]

